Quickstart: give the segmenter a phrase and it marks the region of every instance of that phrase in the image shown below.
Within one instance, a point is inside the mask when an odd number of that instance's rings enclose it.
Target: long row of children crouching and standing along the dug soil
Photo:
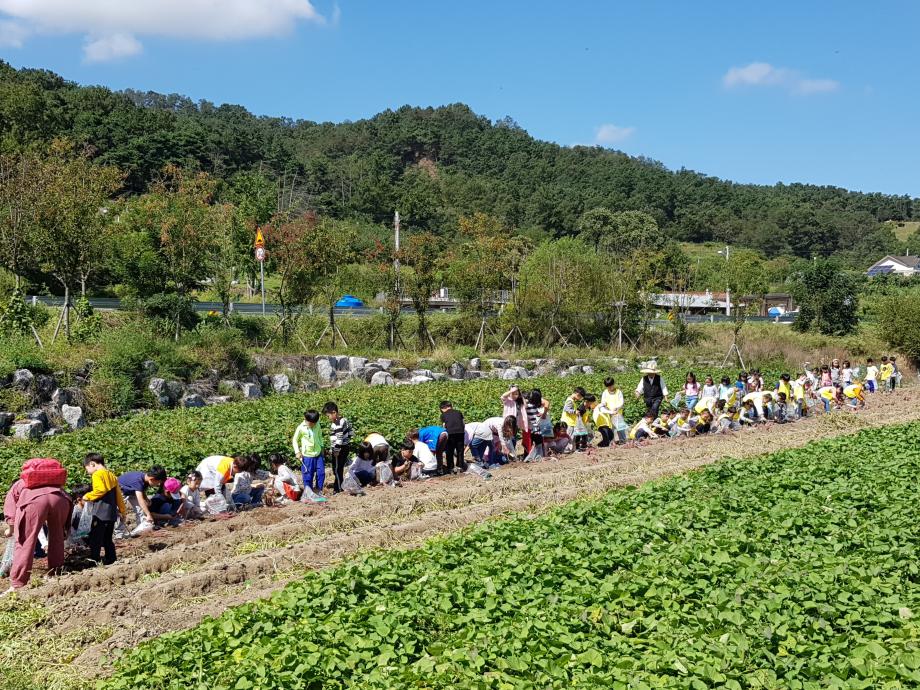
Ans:
[[[652,381],[659,372],[643,369],[643,373]],[[373,485],[396,486],[460,472],[488,479],[497,466],[584,452],[595,440],[601,448],[644,445],[656,438],[783,424],[833,409],[855,411],[865,405],[866,393],[891,391],[901,378],[894,357],[883,357],[880,366],[869,359],[865,376],[859,374],[859,368],[850,362],[834,360],[822,367],[806,366],[794,378],[783,374],[768,387],[757,370],[718,383],[712,376],[700,383],[691,372],[681,391],[666,402],[661,393],[667,396],[667,388],[660,379],[660,390],[643,389],[640,382],[636,395],[646,391],[648,409],[631,425],[624,417],[624,393],[613,378],[604,380],[600,395],[575,387],[555,422],[550,402],[539,389],[525,392],[511,386],[499,400],[500,416],[467,422],[450,401],[443,401],[439,423],[410,430],[395,448],[376,432],[356,442],[351,422],[334,402],[328,402],[321,411],[307,410],[294,431],[291,449],[299,472],[288,466],[282,454],[273,453],[265,469],[258,454],[209,456],[184,481],[168,476],[158,466],[116,476],[101,455],[90,453],[83,461],[90,482],[70,495],[73,510],[68,541],[85,540],[89,557],[109,564],[116,559],[117,537],[261,505],[325,502],[327,462],[333,494],[363,495]],[[322,417],[328,422],[328,440],[320,426]],[[8,502],[13,493],[11,489]],[[129,515],[133,517],[131,529]],[[5,517],[12,524],[12,515]],[[9,558],[6,566],[8,569]],[[0,576],[3,570],[0,562]]]

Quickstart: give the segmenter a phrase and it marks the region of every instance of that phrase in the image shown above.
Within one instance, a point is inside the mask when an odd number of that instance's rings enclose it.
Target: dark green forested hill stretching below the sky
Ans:
[[[534,237],[562,236],[577,231],[585,211],[606,207],[646,211],[674,239],[864,262],[899,249],[880,221],[908,220],[915,208],[920,216],[920,201],[905,196],[734,184],[599,147],[561,147],[462,104],[315,123],[79,86],[3,62],[0,136],[5,151],[73,139],[127,171],[129,192],[143,191],[168,162],[224,179],[257,169],[320,213],[389,222],[399,208],[410,227],[444,234],[459,215],[483,211]]]

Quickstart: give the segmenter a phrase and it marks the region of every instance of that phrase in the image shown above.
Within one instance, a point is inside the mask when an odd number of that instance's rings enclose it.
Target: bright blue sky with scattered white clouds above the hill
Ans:
[[[464,102],[671,168],[920,196],[918,25],[906,0],[0,0],[0,56],[319,121]]]

